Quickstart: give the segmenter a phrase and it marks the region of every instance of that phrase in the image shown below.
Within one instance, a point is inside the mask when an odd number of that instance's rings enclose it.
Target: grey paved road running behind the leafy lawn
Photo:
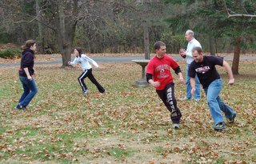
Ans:
[[[49,57],[38,57],[38,58],[49,58]],[[61,57],[50,57],[54,58],[56,61],[52,62],[35,62],[36,65],[41,65],[41,64],[60,64],[62,65],[62,58]],[[92,57],[95,62],[98,63],[129,63],[131,60],[134,59],[143,59],[144,57],[142,56],[130,56],[130,57]],[[174,56],[173,57],[176,61],[184,61],[183,58],[179,56]],[[225,60],[232,60],[233,56],[226,56]],[[256,60],[256,56],[240,56],[240,60]],[[6,66],[19,66],[20,63],[15,63],[15,64],[0,64],[0,67],[6,67]]]

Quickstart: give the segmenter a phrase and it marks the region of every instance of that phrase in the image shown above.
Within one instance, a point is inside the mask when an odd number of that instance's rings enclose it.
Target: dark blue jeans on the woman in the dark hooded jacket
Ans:
[[[38,88],[36,83],[34,82],[34,78],[32,78],[32,80],[30,81],[29,79],[27,79],[27,77],[20,76],[19,79],[22,82],[24,92],[18,103],[26,108],[32,98],[34,98],[34,95],[38,93]]]

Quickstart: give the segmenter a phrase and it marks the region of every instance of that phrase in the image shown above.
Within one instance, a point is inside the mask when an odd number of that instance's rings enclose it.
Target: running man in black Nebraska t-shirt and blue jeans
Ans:
[[[215,66],[223,66],[226,69],[230,78],[229,84],[233,85],[234,76],[230,65],[221,57],[203,56],[202,49],[200,47],[194,47],[192,55],[194,61],[191,62],[189,69],[190,83],[192,86],[191,94],[194,94],[195,91],[194,77],[195,74],[197,74],[206,93],[210,114],[214,119],[214,130],[223,130],[226,128],[226,125],[222,117],[222,111],[226,118],[230,120],[230,123],[234,122],[234,118],[237,114],[230,106],[227,106],[222,102],[222,99],[219,97],[219,93],[222,90],[222,78],[218,74]]]

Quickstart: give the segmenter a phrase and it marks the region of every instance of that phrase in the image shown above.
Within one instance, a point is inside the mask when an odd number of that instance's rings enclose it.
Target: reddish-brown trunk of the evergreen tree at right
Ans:
[[[241,40],[242,40],[241,37],[234,39],[234,58],[232,63],[233,74],[239,74],[238,66],[239,66],[239,58],[240,58],[240,51],[241,51]]]

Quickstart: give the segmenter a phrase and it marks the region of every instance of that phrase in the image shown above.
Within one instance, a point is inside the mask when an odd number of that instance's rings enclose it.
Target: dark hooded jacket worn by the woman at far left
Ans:
[[[28,68],[30,76],[34,74],[34,51],[29,48],[22,52],[21,68],[18,70],[20,76],[26,77],[24,68]]]

